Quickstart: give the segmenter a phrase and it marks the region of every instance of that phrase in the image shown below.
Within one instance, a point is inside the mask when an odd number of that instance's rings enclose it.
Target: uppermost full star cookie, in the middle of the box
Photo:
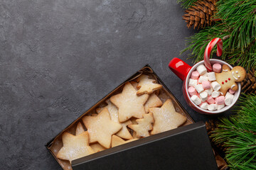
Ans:
[[[118,108],[119,122],[123,123],[129,118],[142,118],[144,115],[144,103],[149,98],[148,94],[137,96],[137,90],[129,82],[124,85],[121,94],[114,95],[110,101]]]

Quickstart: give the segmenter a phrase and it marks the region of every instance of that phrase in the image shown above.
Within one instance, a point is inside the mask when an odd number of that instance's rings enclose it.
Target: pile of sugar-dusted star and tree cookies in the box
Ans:
[[[124,84],[122,92],[108,98],[107,106],[82,117],[75,135],[64,132],[59,159],[73,161],[95,152],[178,128],[186,117],[175,111],[171,99],[164,104],[156,91],[161,84],[142,74]]]

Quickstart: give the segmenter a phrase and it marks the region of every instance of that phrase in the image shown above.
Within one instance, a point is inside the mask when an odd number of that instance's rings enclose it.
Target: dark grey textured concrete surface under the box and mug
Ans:
[[[60,169],[46,142],[147,63],[206,120],[168,68],[194,33],[182,15],[167,0],[1,0],[0,169]]]

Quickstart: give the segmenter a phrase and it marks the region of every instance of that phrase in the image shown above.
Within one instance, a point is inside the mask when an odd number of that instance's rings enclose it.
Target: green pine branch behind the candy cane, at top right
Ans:
[[[214,18],[220,21],[188,38],[188,47],[181,53],[191,50],[194,62],[201,61],[208,42],[219,37],[223,39],[223,60],[247,70],[255,68],[256,0],[220,0],[217,11]]]

